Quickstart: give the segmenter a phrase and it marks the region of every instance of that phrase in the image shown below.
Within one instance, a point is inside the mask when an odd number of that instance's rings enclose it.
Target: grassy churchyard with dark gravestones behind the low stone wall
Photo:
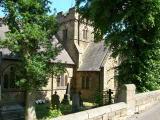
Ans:
[[[52,95],[51,101],[37,100],[35,102],[36,116],[39,120],[45,120],[109,105],[114,102],[113,100],[115,99],[115,96],[113,93],[114,92],[111,89],[105,91],[103,98],[106,97],[109,99],[103,99],[102,103],[102,99],[99,95],[97,95],[92,102],[83,101],[80,92],[73,93],[72,97],[69,97],[69,94],[66,93],[64,99],[60,102],[59,95],[55,92]]]

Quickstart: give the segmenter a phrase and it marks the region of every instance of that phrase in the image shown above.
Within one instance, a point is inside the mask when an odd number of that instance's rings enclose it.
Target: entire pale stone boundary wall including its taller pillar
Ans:
[[[73,113],[52,120],[126,120],[160,103],[160,90],[135,93],[135,85],[124,85],[119,90],[116,104]]]

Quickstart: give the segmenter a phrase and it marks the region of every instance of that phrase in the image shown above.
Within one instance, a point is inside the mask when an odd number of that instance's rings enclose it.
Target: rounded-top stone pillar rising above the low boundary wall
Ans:
[[[131,116],[135,113],[135,90],[134,84],[125,84],[118,92],[117,102],[127,103],[127,115]]]

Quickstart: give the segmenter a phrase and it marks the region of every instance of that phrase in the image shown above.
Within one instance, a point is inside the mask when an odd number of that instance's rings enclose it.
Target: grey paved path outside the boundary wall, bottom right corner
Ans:
[[[153,106],[141,114],[136,114],[128,120],[160,120],[160,104]]]

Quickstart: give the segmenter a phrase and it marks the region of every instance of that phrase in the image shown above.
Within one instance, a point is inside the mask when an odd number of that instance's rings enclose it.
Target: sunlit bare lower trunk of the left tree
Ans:
[[[25,120],[37,120],[35,112],[35,91],[26,91]]]

